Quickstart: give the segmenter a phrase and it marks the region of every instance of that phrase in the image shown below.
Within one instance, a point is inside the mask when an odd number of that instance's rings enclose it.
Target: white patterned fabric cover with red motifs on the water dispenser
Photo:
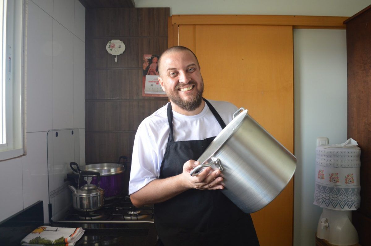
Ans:
[[[331,147],[320,145],[316,148],[313,204],[334,210],[357,210],[361,202],[361,149],[354,145]]]

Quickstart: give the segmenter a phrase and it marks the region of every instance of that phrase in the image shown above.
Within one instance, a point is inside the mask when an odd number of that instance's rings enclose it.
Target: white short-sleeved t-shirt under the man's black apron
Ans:
[[[233,117],[237,107],[229,102],[208,100],[225,124]],[[134,139],[129,181],[129,195],[160,177],[160,167],[169,137],[167,107],[158,109],[145,118],[138,127]],[[205,103],[197,115],[183,115],[173,110],[174,141],[203,140],[215,137],[221,127]]]

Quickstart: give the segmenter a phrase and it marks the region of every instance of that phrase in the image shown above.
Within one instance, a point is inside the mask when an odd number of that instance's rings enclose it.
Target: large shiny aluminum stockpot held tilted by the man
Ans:
[[[240,108],[233,120],[198,158],[195,176],[207,166],[222,171],[222,192],[243,212],[253,213],[270,203],[286,187],[296,158]]]

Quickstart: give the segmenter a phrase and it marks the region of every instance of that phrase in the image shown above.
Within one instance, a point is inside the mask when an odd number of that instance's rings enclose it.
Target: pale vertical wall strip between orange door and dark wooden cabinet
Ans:
[[[347,140],[345,30],[294,30],[294,245],[315,245],[322,209],[313,205],[317,137]]]

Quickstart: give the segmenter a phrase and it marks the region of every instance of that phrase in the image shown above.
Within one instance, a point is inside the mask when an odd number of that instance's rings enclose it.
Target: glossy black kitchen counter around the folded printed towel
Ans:
[[[21,240],[42,225],[55,227],[82,227],[85,232],[75,245],[156,246],[157,232],[154,223],[44,223],[43,202],[0,222],[0,246],[19,246]]]

